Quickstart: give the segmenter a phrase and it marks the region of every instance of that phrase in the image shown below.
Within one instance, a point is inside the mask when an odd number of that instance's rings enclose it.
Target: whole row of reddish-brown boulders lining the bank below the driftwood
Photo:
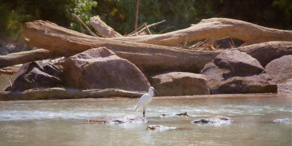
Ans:
[[[4,91],[64,87],[146,92],[153,86],[158,96],[291,92],[291,58],[282,56],[264,68],[245,52],[226,50],[205,64],[200,73],[149,75],[100,47],[68,57],[59,65],[41,61],[23,64]]]

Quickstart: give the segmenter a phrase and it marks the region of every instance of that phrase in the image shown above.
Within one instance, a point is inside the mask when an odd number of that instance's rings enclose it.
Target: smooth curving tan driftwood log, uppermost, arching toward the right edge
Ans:
[[[192,42],[208,38],[207,43],[212,43],[220,38],[228,36],[238,38],[249,44],[269,41],[292,41],[291,30],[277,30],[227,18],[203,19],[200,23],[192,24],[189,28],[164,34],[110,39],[162,46],[175,46],[185,40]]]

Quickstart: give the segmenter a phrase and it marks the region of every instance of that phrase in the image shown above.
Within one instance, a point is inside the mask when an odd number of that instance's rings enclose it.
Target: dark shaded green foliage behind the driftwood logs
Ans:
[[[31,49],[21,36],[26,22],[47,20],[78,32],[82,27],[88,33],[71,13],[76,13],[87,26],[90,17],[99,15],[122,35],[130,33],[134,31],[136,3],[137,0],[0,0],[0,55]],[[223,17],[291,30],[291,7],[290,0],[141,0],[138,27],[144,22],[166,20],[150,30],[156,34],[174,26],[163,32],[167,33],[202,19]]]

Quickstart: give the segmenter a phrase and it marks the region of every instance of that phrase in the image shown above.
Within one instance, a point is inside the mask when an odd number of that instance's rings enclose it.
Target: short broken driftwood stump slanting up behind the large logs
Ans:
[[[94,30],[107,38],[122,37],[120,33],[116,32],[113,28],[109,27],[105,22],[103,22],[99,16],[91,17],[90,24]]]

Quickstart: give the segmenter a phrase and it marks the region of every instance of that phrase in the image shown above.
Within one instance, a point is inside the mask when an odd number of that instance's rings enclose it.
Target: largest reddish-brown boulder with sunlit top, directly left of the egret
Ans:
[[[66,85],[79,89],[148,91],[144,74],[131,62],[105,47],[93,48],[64,61]]]

